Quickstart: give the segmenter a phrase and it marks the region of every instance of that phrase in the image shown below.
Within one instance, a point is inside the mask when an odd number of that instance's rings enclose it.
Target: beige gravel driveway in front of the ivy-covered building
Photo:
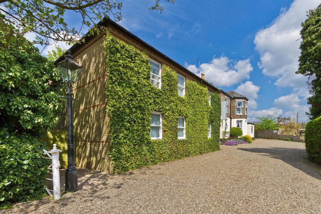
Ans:
[[[321,212],[321,166],[308,161],[299,142],[256,139],[123,174],[79,169],[78,177],[76,193],[17,203],[5,212]]]

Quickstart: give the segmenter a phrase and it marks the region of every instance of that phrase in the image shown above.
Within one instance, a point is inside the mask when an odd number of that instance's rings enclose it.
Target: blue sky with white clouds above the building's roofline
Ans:
[[[148,9],[154,1],[137,2],[123,1],[120,25],[195,73],[199,58],[206,80],[250,99],[249,121],[268,112],[308,119],[307,79],[295,71],[300,23],[319,1],[161,1],[161,14]]]

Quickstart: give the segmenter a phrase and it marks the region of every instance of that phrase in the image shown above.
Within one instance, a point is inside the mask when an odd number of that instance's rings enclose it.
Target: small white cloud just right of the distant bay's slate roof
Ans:
[[[247,106],[249,109],[256,109],[257,103],[255,99],[258,98],[257,93],[259,90],[259,86],[254,85],[251,81],[246,81],[240,84],[235,91],[248,98]]]

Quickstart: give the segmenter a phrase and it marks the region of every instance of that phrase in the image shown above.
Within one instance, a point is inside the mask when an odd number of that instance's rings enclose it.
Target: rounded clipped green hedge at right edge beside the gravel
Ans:
[[[311,161],[321,163],[321,116],[308,122],[305,128],[305,147]]]

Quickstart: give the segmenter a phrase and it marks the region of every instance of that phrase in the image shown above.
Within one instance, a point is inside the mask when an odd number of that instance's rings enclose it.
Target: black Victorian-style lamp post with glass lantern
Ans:
[[[67,82],[68,91],[66,92],[68,102],[68,167],[65,173],[65,188],[66,192],[76,192],[78,190],[77,170],[74,157],[74,130],[73,130],[73,106],[72,101],[72,83],[75,83],[80,73],[82,66],[73,61],[70,50],[67,52],[66,58],[57,63],[61,77],[64,82]],[[79,100],[77,100],[79,101]]]

